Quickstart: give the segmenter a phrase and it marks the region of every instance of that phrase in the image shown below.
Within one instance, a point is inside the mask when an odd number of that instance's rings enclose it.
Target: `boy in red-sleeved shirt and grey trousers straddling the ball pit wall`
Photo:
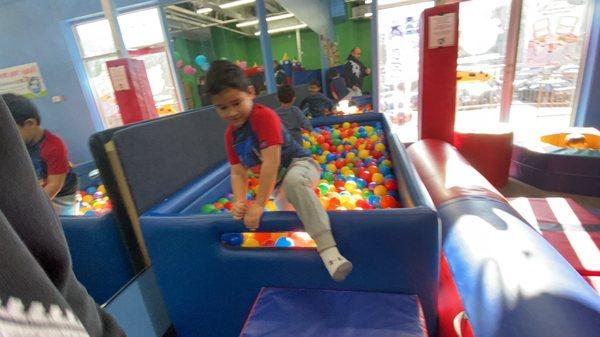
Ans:
[[[227,122],[225,143],[231,164],[234,219],[247,228],[260,225],[264,207],[276,185],[298,213],[331,277],[343,281],[352,263],[337,249],[329,217],[313,188],[320,179],[319,164],[295,142],[275,111],[253,102],[254,95],[242,69],[228,61],[215,61],[207,74],[207,90],[221,118]],[[247,170],[260,167],[255,201],[246,199]],[[283,194],[283,193],[282,193]]]

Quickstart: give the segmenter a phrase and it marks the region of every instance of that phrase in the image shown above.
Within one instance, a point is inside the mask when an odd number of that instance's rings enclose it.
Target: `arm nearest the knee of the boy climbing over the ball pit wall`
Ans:
[[[264,212],[265,204],[275,188],[277,172],[281,161],[281,145],[271,145],[260,151],[262,164],[260,167],[260,178],[258,180],[258,192],[256,200],[248,208],[244,216],[244,224],[247,228],[256,229],[260,225],[260,218]]]

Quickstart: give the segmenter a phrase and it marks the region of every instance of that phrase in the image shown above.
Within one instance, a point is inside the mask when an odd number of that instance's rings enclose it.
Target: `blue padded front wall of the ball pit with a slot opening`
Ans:
[[[242,232],[231,216],[142,216],[144,239],[177,334],[235,336],[264,286],[416,294],[435,333],[439,227],[428,207],[330,212],[333,235],[354,264],[331,280],[315,250],[240,250],[222,233]],[[261,231],[301,230],[295,213],[264,215]]]

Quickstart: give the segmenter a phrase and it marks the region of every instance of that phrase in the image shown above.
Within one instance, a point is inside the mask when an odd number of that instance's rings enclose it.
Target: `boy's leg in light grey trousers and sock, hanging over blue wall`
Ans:
[[[329,217],[313,188],[319,181],[320,168],[311,158],[295,159],[289,166],[281,189],[294,206],[308,234],[315,240],[317,251],[331,277],[343,281],[352,271],[352,263],[338,251]]]

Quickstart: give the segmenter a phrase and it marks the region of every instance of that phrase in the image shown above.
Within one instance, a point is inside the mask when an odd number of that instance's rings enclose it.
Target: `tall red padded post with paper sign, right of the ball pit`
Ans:
[[[429,18],[454,13],[455,43],[429,49]],[[423,11],[419,68],[419,139],[452,143],[456,114],[456,64],[458,57],[458,3]]]

